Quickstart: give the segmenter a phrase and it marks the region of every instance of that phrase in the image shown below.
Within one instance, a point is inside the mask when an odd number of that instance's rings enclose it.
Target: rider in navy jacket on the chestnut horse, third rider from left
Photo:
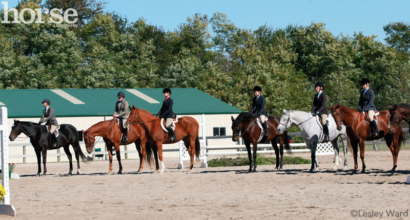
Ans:
[[[171,127],[172,121],[174,120],[174,112],[172,111],[172,105],[174,105],[174,101],[170,98],[171,90],[169,88],[165,88],[162,90],[163,97],[165,100],[162,102],[161,109],[159,110],[157,117],[158,118],[165,118],[165,127],[167,128],[168,132],[171,134],[170,140],[175,141],[176,136],[175,132]]]

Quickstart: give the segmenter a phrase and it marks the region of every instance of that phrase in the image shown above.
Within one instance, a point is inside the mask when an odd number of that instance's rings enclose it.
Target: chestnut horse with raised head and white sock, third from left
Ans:
[[[199,160],[200,157],[200,144],[199,144],[199,123],[192,117],[184,116],[178,118],[178,122],[175,123],[175,141],[170,141],[170,135],[165,133],[161,128],[161,120],[158,117],[153,116],[151,113],[144,109],[139,109],[132,106],[130,114],[127,117],[127,125],[140,124],[145,129],[148,142],[153,145],[153,148],[157,149],[157,153],[154,153],[155,157],[155,171],[159,169],[158,156],[161,161],[160,173],[163,173],[165,165],[162,159],[162,144],[177,143],[182,140],[188,149],[191,165],[188,171],[192,171],[194,168],[194,157]]]

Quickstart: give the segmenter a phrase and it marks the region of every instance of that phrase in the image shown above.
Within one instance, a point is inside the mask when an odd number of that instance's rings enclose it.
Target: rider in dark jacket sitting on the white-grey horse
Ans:
[[[313,98],[311,114],[314,117],[316,117],[317,115],[320,115],[320,118],[322,119],[322,126],[323,126],[323,133],[324,133],[323,142],[327,142],[330,139],[329,138],[329,128],[327,127],[327,124],[326,124],[327,115],[329,114],[329,112],[327,112],[327,107],[326,107],[327,97],[326,97],[326,94],[323,93],[323,89],[324,89],[324,84],[322,82],[315,83],[315,90],[317,94]]]

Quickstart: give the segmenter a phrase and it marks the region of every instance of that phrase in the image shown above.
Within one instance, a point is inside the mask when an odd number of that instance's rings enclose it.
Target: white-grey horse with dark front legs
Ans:
[[[347,135],[346,128],[341,126],[341,129],[336,129],[336,123],[332,116],[327,117],[329,121],[329,139],[331,140],[333,149],[335,151],[335,166],[333,170],[337,170],[339,166],[339,146],[337,145],[338,137],[341,137],[344,153],[344,166],[343,170],[347,168]],[[309,171],[317,171],[319,164],[316,158],[316,148],[318,143],[322,143],[324,136],[322,135],[322,124],[319,122],[319,117],[312,116],[308,112],[283,109],[282,117],[280,118],[279,126],[276,128],[279,134],[282,134],[285,130],[289,129],[291,125],[297,126],[301,133],[303,141],[311,149],[312,166]],[[315,166],[316,165],[316,166]]]

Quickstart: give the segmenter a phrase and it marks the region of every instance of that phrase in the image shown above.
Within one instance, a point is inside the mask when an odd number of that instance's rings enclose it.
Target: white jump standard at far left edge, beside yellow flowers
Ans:
[[[6,195],[3,198],[3,204],[0,205],[0,214],[15,216],[16,210],[12,205],[10,205],[7,108],[1,107],[0,109],[0,141],[2,143],[2,185],[6,191]]]

